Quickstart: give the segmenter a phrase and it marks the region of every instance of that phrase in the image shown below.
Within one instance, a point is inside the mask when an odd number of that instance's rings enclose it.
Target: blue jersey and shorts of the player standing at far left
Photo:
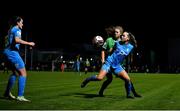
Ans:
[[[3,51],[7,61],[16,69],[24,68],[24,62],[19,55],[19,46],[20,44],[17,44],[15,42],[15,37],[21,38],[21,30],[14,26],[7,36],[7,41],[5,43],[5,49]]]

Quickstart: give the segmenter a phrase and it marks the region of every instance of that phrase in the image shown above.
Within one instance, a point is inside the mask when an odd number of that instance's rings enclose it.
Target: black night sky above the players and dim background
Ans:
[[[1,16],[1,35],[5,35],[12,15],[24,18],[23,33],[36,43],[37,49],[90,44],[93,36],[103,36],[105,27],[121,25],[135,35],[141,51],[154,50],[164,59],[169,55],[168,40],[180,38],[180,7],[176,3],[71,2],[53,3],[51,8],[47,4],[34,5],[36,11],[27,8],[26,13]]]

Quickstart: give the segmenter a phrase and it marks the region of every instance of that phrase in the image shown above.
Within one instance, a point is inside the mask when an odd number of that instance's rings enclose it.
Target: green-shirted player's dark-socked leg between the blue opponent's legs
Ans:
[[[104,96],[104,90],[107,88],[107,86],[112,82],[113,76],[112,73],[107,73],[106,74],[107,79],[103,82],[101,89],[99,91],[99,96]]]

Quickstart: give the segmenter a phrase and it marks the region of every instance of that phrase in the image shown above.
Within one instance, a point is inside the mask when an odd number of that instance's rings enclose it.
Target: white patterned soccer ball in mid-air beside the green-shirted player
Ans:
[[[99,47],[102,46],[104,44],[104,39],[102,36],[95,36],[92,40],[93,45]]]

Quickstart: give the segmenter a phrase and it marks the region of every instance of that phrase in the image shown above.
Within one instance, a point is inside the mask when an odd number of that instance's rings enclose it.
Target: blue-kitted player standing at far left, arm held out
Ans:
[[[21,39],[21,29],[23,27],[23,19],[21,17],[16,17],[13,21],[13,24],[8,32],[8,41],[5,43],[5,49],[3,54],[6,58],[6,61],[9,65],[11,65],[12,75],[10,75],[8,84],[6,87],[6,91],[4,93],[4,97],[9,99],[16,99],[18,101],[26,101],[29,102],[30,100],[24,97],[24,90],[26,84],[26,69],[25,64],[19,54],[20,44],[34,46],[34,42],[27,42]],[[18,96],[17,98],[11,94],[11,89],[15,84],[17,75],[18,78]]]

